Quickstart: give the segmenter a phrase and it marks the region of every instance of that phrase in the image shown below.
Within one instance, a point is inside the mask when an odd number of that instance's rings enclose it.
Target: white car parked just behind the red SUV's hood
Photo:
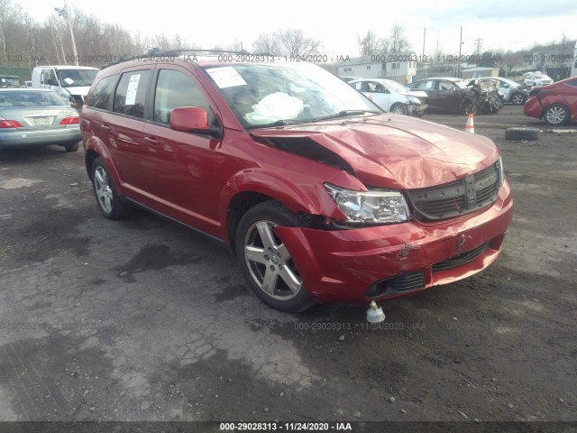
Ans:
[[[416,115],[422,117],[426,110],[426,98],[423,91],[413,91],[397,81],[386,78],[362,78],[349,82],[372,102],[383,110],[398,115]]]

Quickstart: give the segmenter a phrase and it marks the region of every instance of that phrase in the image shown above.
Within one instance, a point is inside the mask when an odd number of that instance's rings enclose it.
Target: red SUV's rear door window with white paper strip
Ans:
[[[122,75],[114,96],[114,113],[144,117],[144,101],[151,75],[150,69],[134,70]]]

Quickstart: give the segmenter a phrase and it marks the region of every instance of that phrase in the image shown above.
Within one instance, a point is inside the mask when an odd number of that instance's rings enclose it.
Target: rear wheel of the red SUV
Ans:
[[[131,206],[117,193],[108,170],[100,158],[92,163],[92,190],[102,215],[108,219],[123,219],[130,215]]]

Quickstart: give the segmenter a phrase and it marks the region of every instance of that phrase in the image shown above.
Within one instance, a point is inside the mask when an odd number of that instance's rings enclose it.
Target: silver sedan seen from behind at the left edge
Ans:
[[[58,144],[78,151],[78,111],[43,88],[0,89],[0,151]]]

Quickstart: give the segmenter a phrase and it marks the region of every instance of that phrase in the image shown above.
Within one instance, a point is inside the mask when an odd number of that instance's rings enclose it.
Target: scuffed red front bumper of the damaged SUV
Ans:
[[[435,223],[328,231],[275,228],[318,302],[392,299],[461,280],[499,256],[512,219],[507,181],[481,211]]]

